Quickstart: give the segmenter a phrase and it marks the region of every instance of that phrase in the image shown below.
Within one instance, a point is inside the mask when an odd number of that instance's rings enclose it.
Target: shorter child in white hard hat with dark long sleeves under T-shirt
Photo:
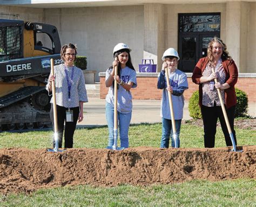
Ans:
[[[171,112],[169,105],[168,92],[172,94],[172,105],[174,120],[176,125],[177,133],[177,144],[180,147],[180,125],[181,119],[183,118],[184,108],[184,97],[183,92],[188,89],[187,76],[185,73],[177,69],[179,55],[174,48],[167,49],[162,57],[163,66],[162,70],[158,75],[157,88],[163,89],[163,96],[161,100],[161,117],[162,117],[162,137],[161,137],[161,148],[169,148],[170,135],[172,139],[172,147],[174,147],[173,130],[171,123]],[[165,68],[168,68],[170,87],[167,87]]]

